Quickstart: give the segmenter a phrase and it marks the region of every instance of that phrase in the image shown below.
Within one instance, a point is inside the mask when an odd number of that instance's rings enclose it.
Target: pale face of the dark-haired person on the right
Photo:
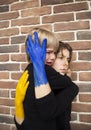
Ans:
[[[60,74],[65,75],[69,68],[69,60],[70,60],[69,51],[67,49],[63,49],[62,52],[60,51],[57,54],[57,58],[55,59],[53,68]]]

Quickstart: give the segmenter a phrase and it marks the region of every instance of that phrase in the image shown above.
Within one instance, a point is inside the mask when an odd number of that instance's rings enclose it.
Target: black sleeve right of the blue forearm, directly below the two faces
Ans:
[[[71,79],[67,75],[61,75],[48,65],[45,66],[45,70],[52,90],[69,87]]]

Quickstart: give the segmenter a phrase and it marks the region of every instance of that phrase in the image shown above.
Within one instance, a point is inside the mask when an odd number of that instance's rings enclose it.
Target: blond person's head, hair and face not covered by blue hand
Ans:
[[[55,37],[55,35],[52,32],[50,32],[46,29],[33,28],[30,31],[30,35],[31,35],[32,39],[34,39],[34,32],[38,33],[40,45],[42,45],[43,39],[45,39],[45,38],[47,39],[47,49],[46,49],[47,53],[46,53],[45,64],[52,66],[54,63],[54,60],[56,58],[55,53],[57,52],[58,47],[59,47],[57,38]]]

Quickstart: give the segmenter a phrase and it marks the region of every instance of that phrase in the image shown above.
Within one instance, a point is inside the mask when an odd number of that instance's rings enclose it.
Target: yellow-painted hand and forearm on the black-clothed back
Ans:
[[[19,79],[18,84],[16,86],[15,116],[20,119],[24,118],[23,101],[26,95],[26,90],[29,85],[28,76],[28,71],[26,70]]]

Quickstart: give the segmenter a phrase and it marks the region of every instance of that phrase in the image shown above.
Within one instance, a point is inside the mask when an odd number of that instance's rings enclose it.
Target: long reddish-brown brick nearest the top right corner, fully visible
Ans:
[[[87,2],[68,3],[54,7],[54,13],[88,10]]]

